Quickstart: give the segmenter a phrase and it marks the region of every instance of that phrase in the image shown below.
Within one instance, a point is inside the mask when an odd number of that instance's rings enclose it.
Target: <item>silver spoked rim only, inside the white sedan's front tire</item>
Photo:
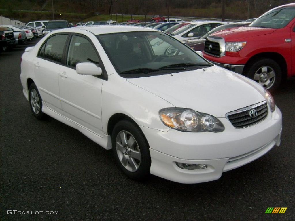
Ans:
[[[116,137],[117,155],[122,165],[131,172],[140,166],[140,149],[137,141],[128,131],[120,131]]]

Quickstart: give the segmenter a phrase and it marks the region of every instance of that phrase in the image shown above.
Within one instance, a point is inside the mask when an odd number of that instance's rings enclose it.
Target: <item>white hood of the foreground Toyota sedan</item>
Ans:
[[[127,78],[127,81],[175,107],[215,117],[225,117],[227,112],[265,100],[263,88],[256,82],[216,65],[173,74]]]

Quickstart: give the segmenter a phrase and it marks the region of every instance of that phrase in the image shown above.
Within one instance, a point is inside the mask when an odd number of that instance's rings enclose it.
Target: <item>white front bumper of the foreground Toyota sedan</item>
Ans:
[[[235,129],[221,119],[220,133],[167,132],[141,127],[150,145],[150,173],[179,183],[200,183],[219,179],[222,172],[258,159],[281,142],[281,112],[278,108],[260,123]],[[228,121],[228,123],[227,123]],[[181,169],[183,164],[205,164],[206,169]]]

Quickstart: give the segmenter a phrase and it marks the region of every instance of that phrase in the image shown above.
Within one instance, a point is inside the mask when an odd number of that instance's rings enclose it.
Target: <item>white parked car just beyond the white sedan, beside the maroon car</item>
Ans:
[[[221,24],[226,24],[225,22],[192,22],[191,24],[185,25],[180,29],[171,32],[174,38],[178,39],[179,41],[184,41],[196,37],[201,37],[202,35],[209,32],[211,29],[216,28]]]

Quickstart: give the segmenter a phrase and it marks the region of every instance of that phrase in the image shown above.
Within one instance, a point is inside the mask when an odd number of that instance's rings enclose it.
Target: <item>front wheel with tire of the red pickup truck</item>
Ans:
[[[260,58],[249,64],[245,75],[271,91],[276,90],[282,80],[280,65],[270,58]]]

